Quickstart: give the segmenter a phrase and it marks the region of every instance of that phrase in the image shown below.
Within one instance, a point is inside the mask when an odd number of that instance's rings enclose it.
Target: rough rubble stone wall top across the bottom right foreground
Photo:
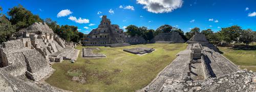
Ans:
[[[256,91],[256,73],[241,70],[204,81],[168,79],[160,91]]]

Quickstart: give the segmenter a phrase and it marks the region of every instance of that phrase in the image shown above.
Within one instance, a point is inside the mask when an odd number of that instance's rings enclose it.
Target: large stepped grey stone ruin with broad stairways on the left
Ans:
[[[13,39],[0,48],[0,66],[14,77],[39,81],[53,71],[50,62],[76,60],[79,54],[41,22],[18,31]]]

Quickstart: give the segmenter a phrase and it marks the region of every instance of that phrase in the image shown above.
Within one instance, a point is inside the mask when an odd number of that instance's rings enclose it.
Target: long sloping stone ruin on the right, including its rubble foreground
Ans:
[[[137,91],[256,90],[255,73],[241,71],[237,65],[211,49],[212,45],[203,40],[203,34],[194,35],[194,38],[187,49],[178,53],[177,58],[150,84]]]

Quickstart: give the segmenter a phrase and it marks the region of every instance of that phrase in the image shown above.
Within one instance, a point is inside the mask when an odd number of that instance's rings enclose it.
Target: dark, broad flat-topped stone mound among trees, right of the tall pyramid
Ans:
[[[178,32],[159,33],[152,40],[152,43],[184,43],[185,40]]]

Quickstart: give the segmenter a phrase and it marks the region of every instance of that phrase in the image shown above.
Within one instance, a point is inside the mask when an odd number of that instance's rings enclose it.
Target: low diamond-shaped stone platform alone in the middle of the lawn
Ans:
[[[129,52],[132,54],[146,54],[146,53],[151,53],[155,51],[155,49],[140,47],[140,48],[132,48],[132,49],[123,49],[123,51]]]

